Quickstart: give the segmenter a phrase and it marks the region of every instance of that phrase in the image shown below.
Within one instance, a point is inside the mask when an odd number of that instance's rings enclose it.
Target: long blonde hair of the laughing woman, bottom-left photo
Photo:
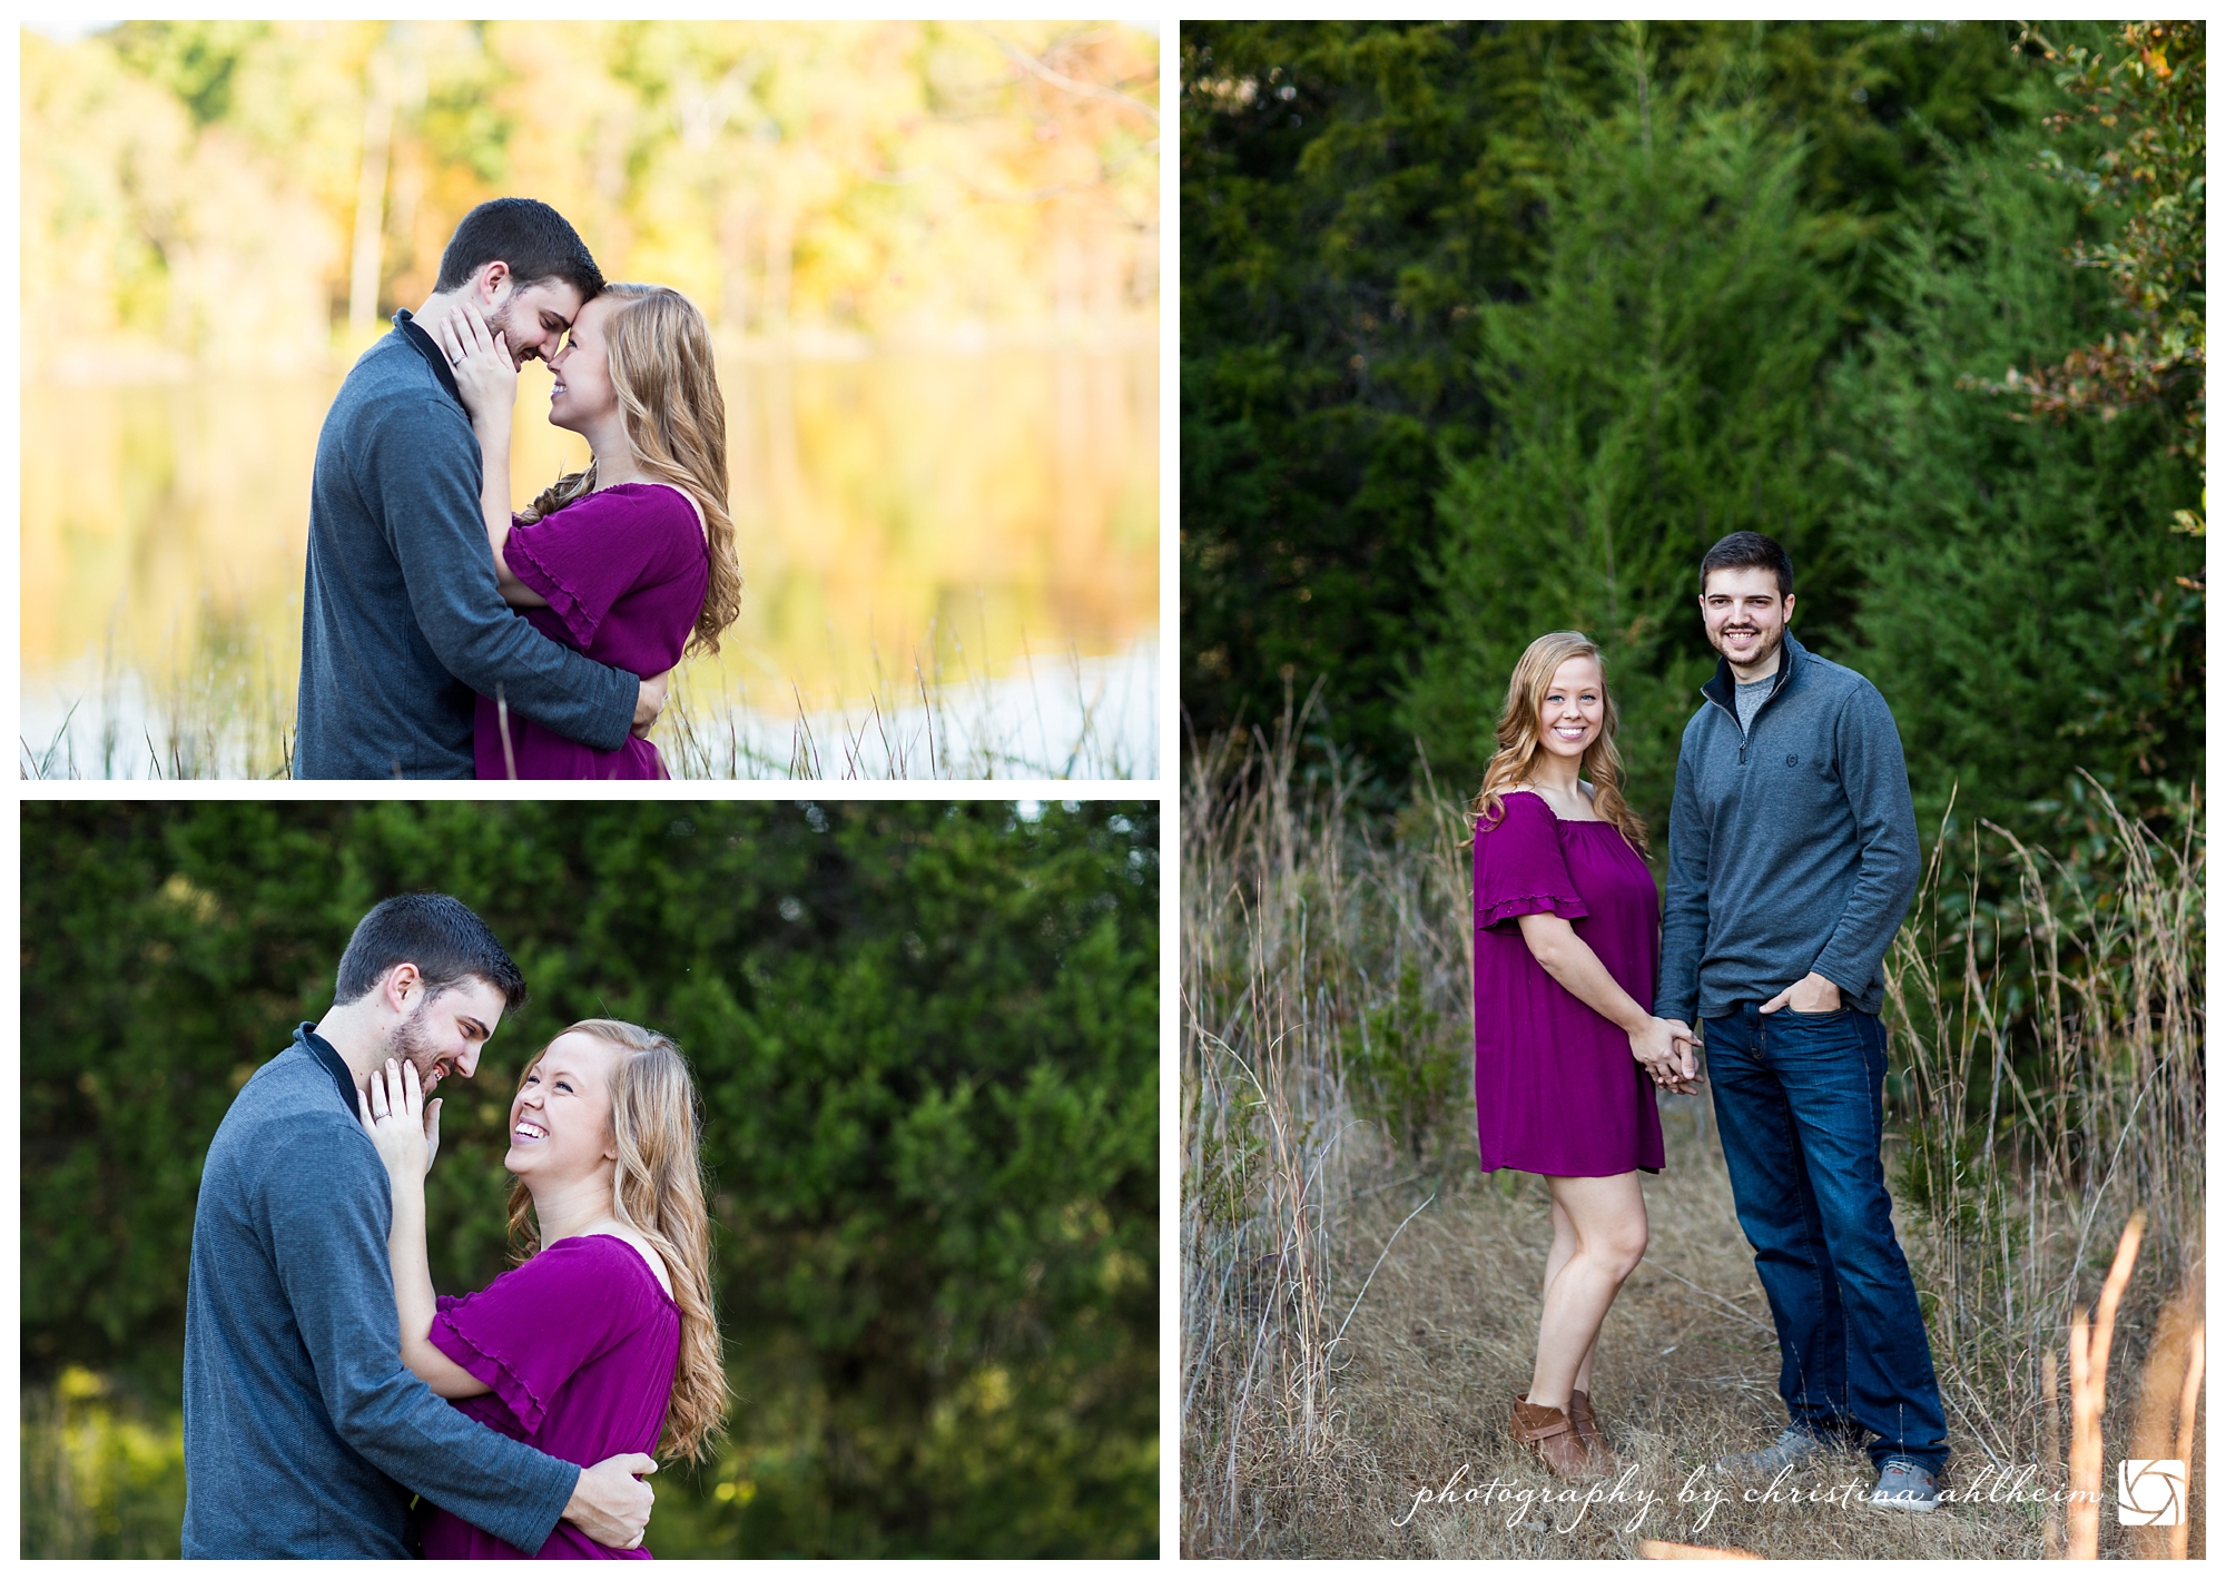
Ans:
[[[556,1035],[574,1030],[623,1055],[610,1068],[610,1130],[619,1148],[610,1215],[657,1246],[672,1275],[672,1302],[681,1309],[681,1355],[672,1369],[672,1404],[659,1455],[697,1460],[726,1422],[726,1366],[719,1362],[719,1322],[710,1302],[710,1213],[703,1206],[703,1162],[697,1155],[695,1082],[679,1044],[663,1033],[628,1021],[574,1021]],[[519,1075],[521,1088],[545,1053],[548,1048],[536,1053]],[[510,1186],[510,1240],[523,1257],[541,1251],[534,1197],[523,1179]]]

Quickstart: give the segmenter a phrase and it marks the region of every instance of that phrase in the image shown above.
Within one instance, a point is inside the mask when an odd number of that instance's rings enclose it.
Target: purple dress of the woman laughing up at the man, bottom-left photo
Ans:
[[[476,1295],[441,1295],[432,1342],[485,1382],[452,1404],[505,1438],[599,1464],[657,1453],[681,1353],[681,1311],[617,1235],[559,1240]],[[445,1509],[425,1509],[427,1558],[648,1558],[603,1547],[556,1522],[539,1553],[521,1553]]]

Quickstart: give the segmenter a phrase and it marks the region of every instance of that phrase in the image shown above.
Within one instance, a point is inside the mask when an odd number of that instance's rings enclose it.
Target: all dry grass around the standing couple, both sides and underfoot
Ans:
[[[1698,1467],[1785,1420],[1705,1099],[1663,1104],[1654,1240],[1594,1389],[1629,1487],[1661,1502],[1574,1524],[1534,1502],[1545,1478],[1505,1420],[1549,1231],[1538,1182],[1476,1175],[1467,819],[1427,774],[1400,817],[1360,812],[1340,763],[1302,761],[1302,732],[1287,717],[1273,737],[1209,741],[1184,774],[1184,1553],[1576,1558],[1638,1556],[1647,1538],[1819,1558],[2061,1551],[2055,1502],[1977,1498],[1923,1520],[1845,1495],[1750,1507],[1730,1484],[1676,1502]],[[2106,817],[2115,846],[2086,888],[1981,830],[2012,899],[1959,908],[1957,892],[1986,895],[1934,859],[1890,961],[1897,1217],[1950,1484],[1974,1495],[2021,1467],[2028,1489],[2061,1491],[2068,1424],[2048,1384],[2133,1208],[2150,1213],[2150,1248],[2117,1322],[2112,1455],[2157,1391],[2133,1380],[2159,1306],[2199,1302],[2202,839],[2166,850]],[[2153,1369],[2175,1400],[2177,1366]],[[1509,1493],[1414,1504],[1449,1478]],[[1868,1491],[1870,1467],[1841,1455],[1814,1478]],[[1531,1491],[1509,1502],[1516,1487]]]

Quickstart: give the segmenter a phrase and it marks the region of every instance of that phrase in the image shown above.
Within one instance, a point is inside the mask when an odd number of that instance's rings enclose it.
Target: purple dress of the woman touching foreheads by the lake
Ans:
[[[543,636],[643,679],[681,659],[710,590],[710,550],[695,505],[666,483],[619,483],[512,525],[510,574],[550,601],[519,610]],[[628,737],[599,752],[510,710],[519,779],[663,779],[657,748]],[[479,699],[472,759],[481,779],[508,779],[492,697]]]

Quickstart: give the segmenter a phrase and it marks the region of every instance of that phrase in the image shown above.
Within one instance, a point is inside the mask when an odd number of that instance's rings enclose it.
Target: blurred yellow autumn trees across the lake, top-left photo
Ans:
[[[528,194],[721,334],[1158,300],[1158,40],[1120,24],[125,22],[22,33],[27,365],[285,367]]]

